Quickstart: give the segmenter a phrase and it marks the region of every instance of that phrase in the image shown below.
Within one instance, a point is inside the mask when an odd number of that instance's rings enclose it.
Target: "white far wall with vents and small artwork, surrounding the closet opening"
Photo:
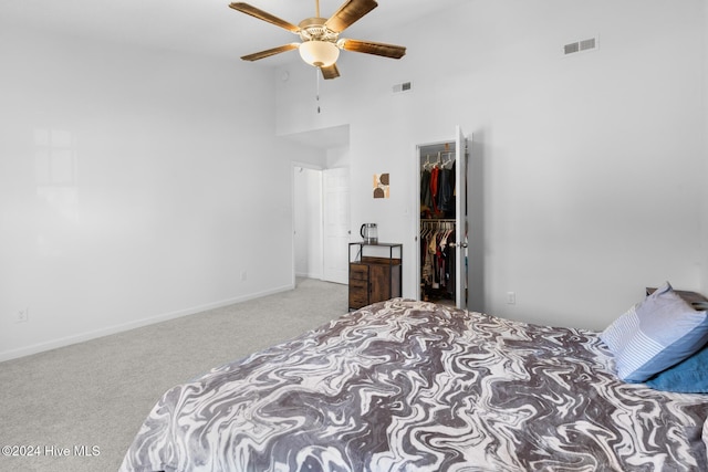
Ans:
[[[461,125],[485,174],[485,310],[602,328],[647,285],[699,290],[705,280],[704,6],[460,2],[371,38],[408,46],[402,61],[343,53],[321,114],[299,93],[311,69],[289,67],[278,133],[348,123],[352,228],[377,222],[409,261],[415,145]],[[562,56],[563,44],[593,35],[597,51]],[[402,81],[413,91],[392,94]],[[392,198],[373,200],[372,175],[384,171]],[[416,295],[412,266],[406,296]]]

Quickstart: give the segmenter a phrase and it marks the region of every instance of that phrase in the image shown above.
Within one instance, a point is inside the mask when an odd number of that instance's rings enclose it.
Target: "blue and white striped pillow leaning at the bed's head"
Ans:
[[[667,282],[615,319],[600,337],[614,354],[617,376],[643,382],[708,342],[708,314],[694,310]]]

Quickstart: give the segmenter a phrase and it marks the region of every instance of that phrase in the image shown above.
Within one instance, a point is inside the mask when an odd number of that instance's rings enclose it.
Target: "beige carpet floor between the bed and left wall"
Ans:
[[[0,471],[117,470],[165,390],[346,313],[346,285],[296,285],[0,363]],[[7,447],[25,457],[6,455]]]

